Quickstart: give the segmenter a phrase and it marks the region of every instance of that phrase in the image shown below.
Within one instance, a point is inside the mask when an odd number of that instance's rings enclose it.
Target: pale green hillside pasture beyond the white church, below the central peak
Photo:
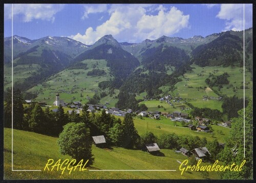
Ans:
[[[92,98],[95,93],[100,94],[103,92],[98,87],[98,83],[101,81],[108,81],[113,78],[110,75],[109,67],[106,67],[105,60],[84,60],[83,63],[87,63],[87,70],[72,69],[63,70],[54,76],[50,77],[47,82],[38,84],[37,86],[29,89],[28,91],[38,93],[38,97],[35,101],[47,102],[51,105],[55,101],[55,95],[58,92],[60,94],[60,100],[65,102],[81,101],[81,103],[87,103],[89,98]],[[103,76],[88,76],[88,72],[93,68],[104,70],[106,75]],[[105,90],[108,92],[108,90]],[[117,102],[115,97],[118,95],[119,90],[115,90],[115,94],[112,97],[104,97],[101,99],[101,103],[109,102],[112,106]]]

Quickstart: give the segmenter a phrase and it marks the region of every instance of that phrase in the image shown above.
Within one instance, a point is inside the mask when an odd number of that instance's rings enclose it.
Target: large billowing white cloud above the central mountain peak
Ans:
[[[109,20],[93,29],[87,28],[80,33],[70,36],[86,44],[93,44],[100,37],[112,34],[119,41],[138,42],[146,38],[156,39],[162,35],[170,36],[188,27],[189,15],[184,15],[176,7],[152,5],[117,5],[108,10]],[[167,10],[168,9],[168,10]],[[157,12],[157,14],[151,14]]]

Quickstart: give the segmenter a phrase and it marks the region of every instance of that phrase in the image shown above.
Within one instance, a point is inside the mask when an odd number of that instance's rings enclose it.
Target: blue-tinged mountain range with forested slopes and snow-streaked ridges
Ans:
[[[252,28],[245,30],[245,51],[246,67],[251,71],[252,62],[249,60],[252,58]],[[12,37],[6,37],[6,68],[11,66],[11,53]],[[26,74],[15,80],[14,86],[27,90],[65,68],[81,65],[86,59],[106,60],[106,66],[110,67],[110,74],[114,76],[106,86],[120,88],[121,92],[129,90],[140,93],[144,90],[152,96],[157,95],[159,86],[175,84],[174,81],[177,82],[177,78],[189,70],[193,63],[200,66],[241,66],[243,31],[227,31],[187,39],[161,36],[156,40],[145,39],[140,43],[119,43],[112,35],[105,35],[93,45],[86,45],[68,37],[47,36],[30,40],[15,35],[13,66],[17,71],[23,69]],[[170,69],[174,72],[167,74]],[[16,75],[20,77],[22,73],[17,72]],[[141,82],[137,85],[131,84],[137,78]],[[5,73],[5,87],[10,83],[7,80],[8,73]],[[99,85],[102,86],[102,83]]]

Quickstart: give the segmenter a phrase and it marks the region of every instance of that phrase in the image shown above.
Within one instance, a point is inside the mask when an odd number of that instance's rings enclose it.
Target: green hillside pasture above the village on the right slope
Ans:
[[[237,97],[243,98],[243,89],[240,86],[243,85],[243,67],[237,66],[205,66],[200,67],[196,64],[191,65],[193,67],[192,71],[189,71],[180,77],[181,82],[178,82],[175,86],[177,87],[172,96],[179,96],[186,100],[187,102],[193,104],[195,107],[209,107],[212,109],[218,109],[222,111],[221,105],[222,101],[217,99],[209,99],[203,101],[203,96],[209,96],[212,98],[217,98],[218,95],[212,89],[217,90],[218,87],[214,86],[209,88],[205,83],[205,79],[208,78],[209,73],[214,74],[214,76],[219,76],[224,72],[227,72],[230,77],[228,77],[229,84],[224,84],[223,88],[218,91],[222,95],[227,95],[231,97],[236,95]],[[251,74],[245,72],[245,83],[249,89],[245,89],[245,96],[247,98],[252,98],[252,81],[250,80]],[[233,91],[233,87],[236,91]],[[168,86],[161,86],[163,92],[168,91]]]

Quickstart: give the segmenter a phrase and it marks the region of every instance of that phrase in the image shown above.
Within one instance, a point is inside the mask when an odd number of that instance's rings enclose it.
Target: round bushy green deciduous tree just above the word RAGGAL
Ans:
[[[89,160],[87,165],[92,165],[92,140],[90,130],[84,123],[68,123],[59,134],[58,145],[60,153],[70,155],[79,162]]]

